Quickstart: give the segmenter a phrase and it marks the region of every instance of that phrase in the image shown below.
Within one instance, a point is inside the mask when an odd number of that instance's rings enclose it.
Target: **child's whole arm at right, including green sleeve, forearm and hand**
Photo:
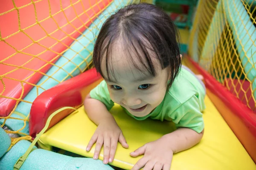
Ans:
[[[169,170],[174,153],[189,149],[202,139],[204,121],[196,96],[192,96],[174,111],[168,106],[167,110],[170,112],[166,114],[165,119],[172,120],[177,130],[132,152],[131,156],[134,157],[144,154],[132,170],[139,170],[141,167],[144,167],[144,170]]]

